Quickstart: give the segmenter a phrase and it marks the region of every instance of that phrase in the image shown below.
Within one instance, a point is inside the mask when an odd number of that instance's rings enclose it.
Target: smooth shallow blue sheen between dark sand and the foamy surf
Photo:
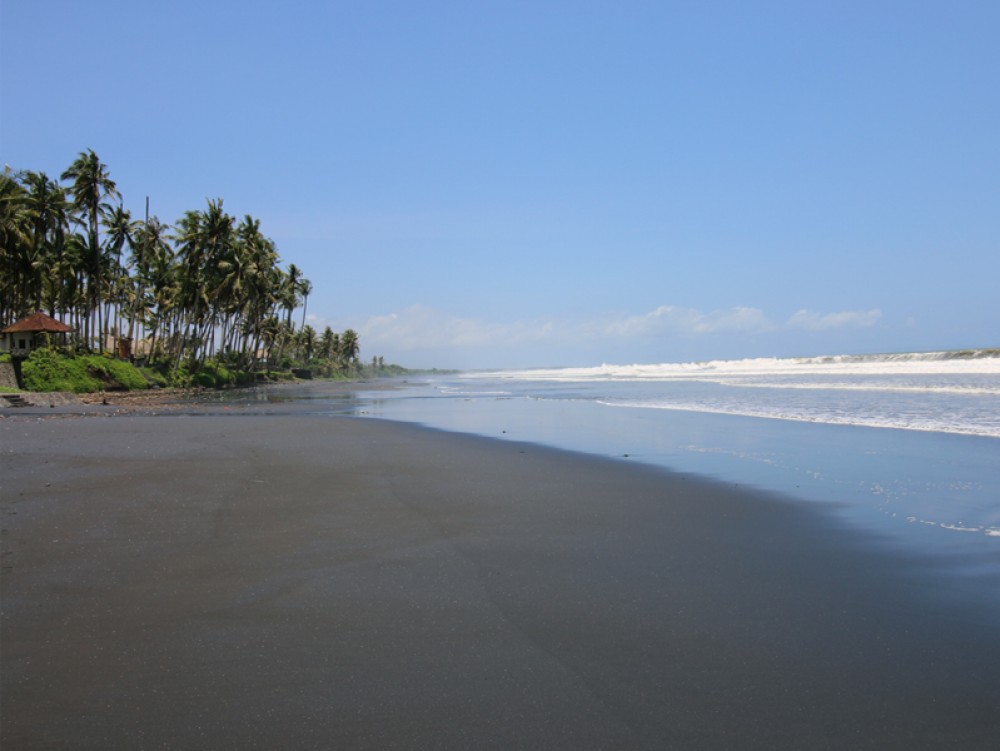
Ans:
[[[1000,442],[993,438],[616,409],[499,389],[444,393],[425,386],[359,396],[359,410],[373,417],[645,462],[827,502],[886,541],[988,575],[1000,593]]]

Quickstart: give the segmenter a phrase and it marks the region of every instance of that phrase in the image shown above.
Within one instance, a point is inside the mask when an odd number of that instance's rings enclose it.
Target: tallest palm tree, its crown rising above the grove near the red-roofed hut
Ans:
[[[99,350],[104,352],[100,305],[101,244],[98,220],[101,214],[107,209],[104,199],[119,198],[120,195],[117,186],[108,173],[107,166],[101,163],[101,160],[94,153],[93,149],[81,151],[76,161],[63,172],[61,179],[73,181],[73,184],[70,186],[70,193],[73,196],[73,206],[83,215],[84,222],[87,225],[87,240],[89,245],[89,258],[87,262],[90,278],[87,283],[89,299],[87,301],[86,337],[89,344],[92,332],[90,316],[96,310]]]

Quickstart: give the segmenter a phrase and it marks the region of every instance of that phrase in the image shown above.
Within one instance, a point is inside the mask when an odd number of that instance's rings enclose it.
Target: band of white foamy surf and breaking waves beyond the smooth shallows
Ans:
[[[610,407],[1000,438],[1000,350],[601,365],[466,378],[517,382],[515,390],[543,399],[574,398],[546,382],[575,384],[570,391],[579,386],[584,398]]]

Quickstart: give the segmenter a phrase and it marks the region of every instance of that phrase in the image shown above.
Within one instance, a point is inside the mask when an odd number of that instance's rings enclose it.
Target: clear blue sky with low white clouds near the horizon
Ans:
[[[0,0],[0,161],[410,366],[1000,346],[1000,2]]]

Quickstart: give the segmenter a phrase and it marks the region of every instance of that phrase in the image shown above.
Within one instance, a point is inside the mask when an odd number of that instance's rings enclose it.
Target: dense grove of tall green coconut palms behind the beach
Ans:
[[[150,362],[174,366],[218,358],[253,371],[266,357],[356,367],[354,331],[306,325],[311,292],[260,221],[235,219],[221,198],[172,226],[148,216],[148,199],[133,218],[91,149],[58,179],[9,167],[0,176],[0,326],[40,310],[71,325],[87,351],[128,338]]]

